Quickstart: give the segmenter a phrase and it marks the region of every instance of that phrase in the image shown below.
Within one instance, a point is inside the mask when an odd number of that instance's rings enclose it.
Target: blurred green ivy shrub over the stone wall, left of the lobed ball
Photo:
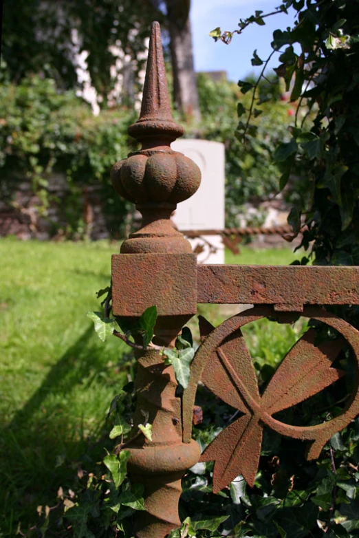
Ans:
[[[118,235],[113,230],[123,228],[131,210],[113,191],[109,173],[135,147],[127,135],[134,120],[127,109],[94,116],[74,92],[58,92],[48,78],[29,76],[19,85],[4,80],[0,87],[3,198],[11,203],[19,182],[30,180],[37,209],[46,216],[50,202],[59,204],[48,189],[49,179],[53,173],[65,173],[69,193],[61,209],[71,236],[82,224],[85,187],[100,184],[107,227]]]

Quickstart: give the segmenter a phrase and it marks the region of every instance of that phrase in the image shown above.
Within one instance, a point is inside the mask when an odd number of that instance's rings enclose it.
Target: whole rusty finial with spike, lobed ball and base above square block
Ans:
[[[171,113],[161,30],[153,23],[141,114],[129,127],[129,134],[142,148],[116,162],[111,173],[118,194],[136,204],[143,216],[140,230],[122,243],[124,254],[192,252],[191,244],[171,222],[176,205],[192,196],[201,182],[197,164],[170,147],[183,133]]]

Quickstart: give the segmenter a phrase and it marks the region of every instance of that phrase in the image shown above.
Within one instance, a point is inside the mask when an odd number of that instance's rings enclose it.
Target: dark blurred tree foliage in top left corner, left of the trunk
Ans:
[[[139,53],[146,50],[154,12],[150,1],[19,0],[14,9],[12,1],[5,0],[1,56],[10,80],[19,83],[29,74],[43,73],[58,87],[74,89],[75,54],[87,51],[91,83],[105,100],[115,83],[112,47],[120,47],[138,69],[142,67]]]

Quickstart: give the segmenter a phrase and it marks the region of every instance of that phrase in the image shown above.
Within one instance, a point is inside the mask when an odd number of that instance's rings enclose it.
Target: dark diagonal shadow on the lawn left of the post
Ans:
[[[36,506],[56,504],[59,486],[71,486],[80,460],[96,462],[102,445],[104,422],[93,424],[89,437],[83,418],[63,412],[69,406],[72,389],[103,374],[103,351],[89,347],[93,334],[89,327],[50,369],[43,383],[23,408],[0,430],[0,536],[10,537],[36,524]],[[121,361],[123,363],[123,361]],[[108,372],[107,372],[108,373]],[[109,393],[111,400],[111,393]],[[45,408],[46,405],[46,408]],[[72,402],[70,401],[70,405]]]

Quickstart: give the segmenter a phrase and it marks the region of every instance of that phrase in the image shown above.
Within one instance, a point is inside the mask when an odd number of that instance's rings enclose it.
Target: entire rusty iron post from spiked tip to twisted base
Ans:
[[[183,129],[171,114],[160,25],[153,23],[140,119],[129,133],[142,143],[113,166],[111,180],[122,197],[142,213],[140,230],[130,235],[112,259],[113,312],[140,316],[157,306],[155,343],[173,346],[181,327],[197,309],[196,257],[173,227],[176,204],[197,191],[200,171],[171,142]],[[172,366],[158,351],[137,354],[135,426],[149,413],[152,441],[137,436],[127,448],[129,476],[144,484],[145,511],[135,519],[138,538],[164,538],[180,525],[181,478],[200,455],[199,445],[182,440],[181,398]]]

